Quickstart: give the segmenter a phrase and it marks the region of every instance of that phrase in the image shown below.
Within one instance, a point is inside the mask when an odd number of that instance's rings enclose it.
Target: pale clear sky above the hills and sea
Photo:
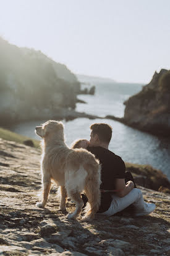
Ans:
[[[170,1],[0,0],[0,36],[74,73],[145,84],[170,69]]]

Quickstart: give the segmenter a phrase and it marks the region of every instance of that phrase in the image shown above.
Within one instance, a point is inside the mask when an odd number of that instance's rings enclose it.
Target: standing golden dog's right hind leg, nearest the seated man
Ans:
[[[88,198],[88,203],[83,210],[85,213],[83,219],[90,221],[100,207],[101,165],[96,160],[93,164],[88,164],[87,168],[90,170],[85,181],[85,194]]]

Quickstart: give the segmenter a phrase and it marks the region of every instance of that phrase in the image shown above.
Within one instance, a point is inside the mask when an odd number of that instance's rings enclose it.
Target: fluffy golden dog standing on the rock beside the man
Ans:
[[[48,121],[35,129],[42,140],[41,174],[43,183],[43,201],[36,205],[44,208],[48,201],[51,181],[61,186],[59,210],[66,211],[67,195],[75,202],[74,213],[69,219],[75,219],[82,212],[84,191],[88,198],[85,208],[85,221],[93,219],[100,206],[100,164],[95,156],[85,149],[69,149],[64,142],[62,122]]]

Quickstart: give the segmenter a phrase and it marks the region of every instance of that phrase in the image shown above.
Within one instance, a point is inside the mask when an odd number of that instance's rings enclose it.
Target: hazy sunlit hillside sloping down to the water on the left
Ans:
[[[80,83],[65,65],[0,37],[0,126],[75,108]]]

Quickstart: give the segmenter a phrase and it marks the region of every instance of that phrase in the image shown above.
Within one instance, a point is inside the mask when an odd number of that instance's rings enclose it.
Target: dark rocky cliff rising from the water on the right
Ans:
[[[126,124],[151,134],[170,135],[169,76],[168,70],[155,72],[150,83],[143,86],[140,93],[125,101],[123,121]]]

